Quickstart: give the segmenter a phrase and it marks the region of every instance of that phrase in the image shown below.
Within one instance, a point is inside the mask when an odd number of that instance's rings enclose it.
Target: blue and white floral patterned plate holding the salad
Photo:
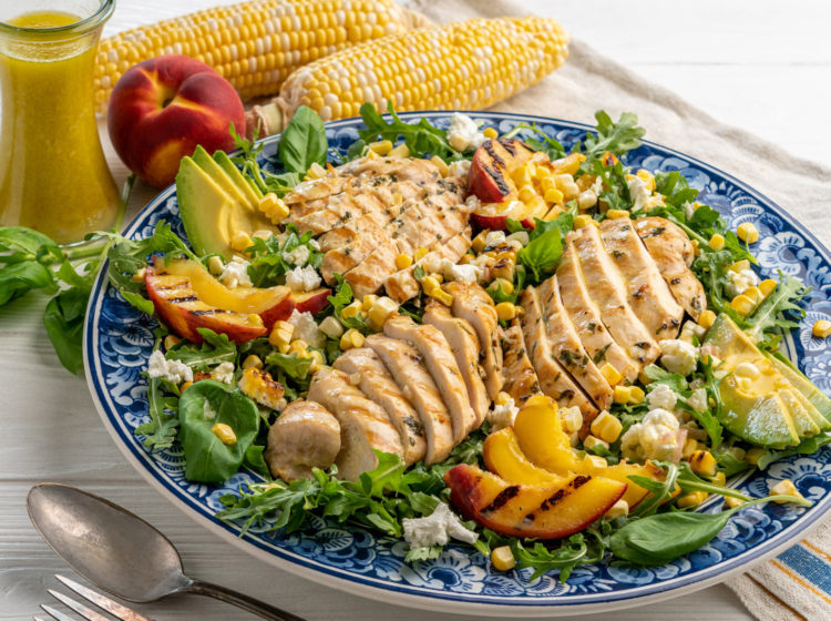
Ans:
[[[425,115],[447,128],[449,113]],[[473,113],[500,133],[519,122],[537,123],[566,147],[584,135],[586,125],[553,119],[503,113]],[[355,141],[360,120],[328,123],[326,134],[332,156]],[[266,141],[263,156],[274,157],[276,142]],[[700,201],[718,208],[731,226],[752,222],[760,233],[753,250],[762,277],[777,269],[801,278],[813,289],[807,298],[808,316],[787,339],[791,359],[825,393],[831,391],[831,345],[811,336],[814,320],[831,319],[831,255],[792,216],[740,181],[677,151],[645,143],[628,155],[627,163],[649,170],[679,170],[701,192]],[[266,163],[266,165],[270,165]],[[165,218],[184,235],[175,187],[153,200],[126,231],[129,237],[152,233]],[[709,544],[670,564],[635,569],[622,562],[576,569],[567,584],[544,576],[529,582],[527,570],[489,571],[488,560],[469,549],[450,547],[441,558],[406,564],[407,544],[358,528],[346,528],[315,519],[305,531],[280,537],[266,529],[252,529],[239,538],[239,529],[214,517],[219,497],[242,483],[258,480],[242,471],[223,486],[187,482],[182,450],[150,454],[133,431],[148,420],[146,383],[140,373],[153,347],[155,320],[127,305],[106,284],[102,269],[92,294],[84,334],[86,371],[93,398],[115,442],[129,461],[164,496],[224,539],[252,554],[311,580],[365,597],[414,608],[474,614],[512,617],[599,612],[666,599],[700,589],[770,557],[815,525],[831,507],[831,447],[812,456],[799,456],[749,476],[738,485],[750,496],[766,496],[769,486],[790,478],[810,509],[782,505],[752,507],[733,517]],[[716,511],[711,501],[702,510]]]

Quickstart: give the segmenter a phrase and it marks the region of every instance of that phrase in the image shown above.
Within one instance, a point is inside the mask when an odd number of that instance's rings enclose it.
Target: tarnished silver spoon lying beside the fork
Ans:
[[[131,602],[173,593],[209,595],[273,621],[304,621],[248,595],[193,580],[171,541],[126,509],[74,487],[39,483],[27,509],[49,546],[93,584]]]

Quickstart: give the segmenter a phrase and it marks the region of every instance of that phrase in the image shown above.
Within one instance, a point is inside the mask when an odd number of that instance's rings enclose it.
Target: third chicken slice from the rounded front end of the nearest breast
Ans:
[[[359,347],[341,354],[332,366],[349,375],[350,381],[357,380],[358,388],[387,410],[387,416],[401,436],[404,462],[409,466],[424,459],[427,440],[421,417],[392,379],[381,358],[372,349]]]

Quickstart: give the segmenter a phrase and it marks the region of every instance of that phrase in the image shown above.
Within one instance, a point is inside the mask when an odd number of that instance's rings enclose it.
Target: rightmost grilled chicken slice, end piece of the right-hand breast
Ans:
[[[707,296],[704,286],[689,269],[696,253],[687,234],[674,222],[663,217],[636,220],[635,230],[658,265],[675,299],[690,317],[698,320],[701,313],[707,310]]]

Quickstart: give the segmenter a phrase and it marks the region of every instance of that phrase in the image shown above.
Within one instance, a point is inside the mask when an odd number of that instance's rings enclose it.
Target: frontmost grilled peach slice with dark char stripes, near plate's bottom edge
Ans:
[[[548,485],[517,485],[461,464],[444,475],[450,500],[468,518],[513,537],[560,539],[601,518],[626,483],[576,475]]]

